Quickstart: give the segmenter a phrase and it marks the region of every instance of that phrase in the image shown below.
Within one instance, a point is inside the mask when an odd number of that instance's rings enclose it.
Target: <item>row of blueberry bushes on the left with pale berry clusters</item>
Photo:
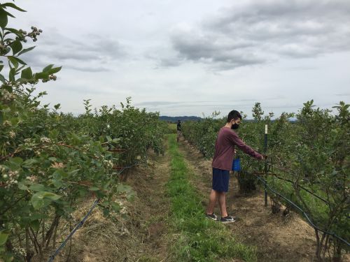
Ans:
[[[31,261],[57,247],[65,237],[57,228],[79,201],[94,196],[104,215],[119,212],[118,198],[131,195],[119,173],[146,161],[147,150],[162,153],[167,125],[129,98],[94,111],[86,100],[78,116],[41,104],[36,85],[61,68],[33,73],[19,58],[43,32],[8,27],[11,10],[23,11],[0,4],[0,261]]]

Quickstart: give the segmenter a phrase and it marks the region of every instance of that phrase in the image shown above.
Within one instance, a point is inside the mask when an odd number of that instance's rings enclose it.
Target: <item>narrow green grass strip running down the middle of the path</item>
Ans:
[[[169,218],[176,234],[172,246],[175,261],[220,261],[237,258],[256,261],[255,247],[243,245],[232,236],[230,228],[204,216],[200,194],[190,184],[190,171],[180,154],[176,136],[169,135],[169,154],[172,157],[171,178],[167,195],[171,200]]]

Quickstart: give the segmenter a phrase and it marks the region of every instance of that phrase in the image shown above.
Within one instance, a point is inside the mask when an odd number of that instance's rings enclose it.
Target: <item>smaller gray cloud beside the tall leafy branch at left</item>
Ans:
[[[78,71],[102,72],[110,71],[106,66],[113,61],[124,59],[127,55],[123,45],[117,40],[101,38],[101,36],[88,34],[76,41],[59,34],[56,29],[45,32],[38,40],[40,48],[34,49],[23,59],[35,68],[47,66],[46,61],[64,68]]]

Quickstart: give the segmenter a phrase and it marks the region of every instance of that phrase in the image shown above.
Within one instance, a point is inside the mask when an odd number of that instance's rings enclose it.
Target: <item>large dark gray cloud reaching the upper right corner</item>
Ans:
[[[173,31],[179,59],[216,70],[350,50],[350,1],[255,1]]]

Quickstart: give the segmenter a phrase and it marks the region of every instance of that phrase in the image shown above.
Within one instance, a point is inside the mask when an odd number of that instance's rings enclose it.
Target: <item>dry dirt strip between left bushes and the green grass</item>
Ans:
[[[128,174],[125,184],[132,186],[136,196],[134,201],[123,201],[127,214],[118,214],[116,221],[111,221],[96,208],[73,235],[71,252],[67,243],[55,261],[167,260],[167,245],[172,239],[167,235],[169,203],[164,197],[165,183],[169,180],[169,157],[151,154],[149,159],[147,166],[134,168]],[[93,201],[93,198],[85,201],[73,214],[76,221],[87,213]]]

